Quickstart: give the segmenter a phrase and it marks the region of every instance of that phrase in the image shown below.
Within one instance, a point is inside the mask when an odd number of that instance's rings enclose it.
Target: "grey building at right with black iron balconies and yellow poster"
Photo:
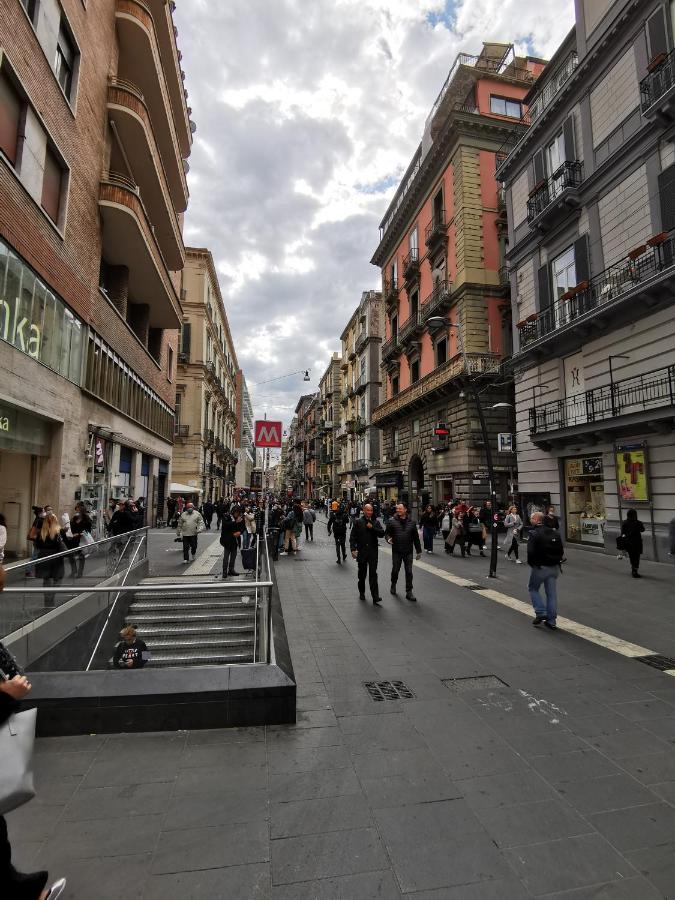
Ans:
[[[675,515],[672,4],[578,0],[499,168],[509,212],[518,471],[570,543]]]

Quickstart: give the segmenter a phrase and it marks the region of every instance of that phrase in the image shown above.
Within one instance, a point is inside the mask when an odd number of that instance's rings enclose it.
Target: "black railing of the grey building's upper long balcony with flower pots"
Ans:
[[[639,255],[638,255],[639,253]],[[636,248],[629,257],[563,294],[548,308],[518,323],[521,349],[582,316],[631,293],[675,265],[675,231],[663,232]]]

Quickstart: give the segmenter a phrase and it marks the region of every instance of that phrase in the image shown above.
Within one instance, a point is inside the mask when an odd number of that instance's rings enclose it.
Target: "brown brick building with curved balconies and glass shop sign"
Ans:
[[[194,124],[171,4],[0,2],[0,511],[165,515]]]

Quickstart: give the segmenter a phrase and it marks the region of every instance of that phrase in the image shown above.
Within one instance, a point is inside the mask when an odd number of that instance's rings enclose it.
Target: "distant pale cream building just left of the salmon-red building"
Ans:
[[[340,448],[340,495],[362,500],[375,488],[380,431],[373,411],[380,403],[380,348],[384,304],[379,291],[364,291],[345,326],[342,341],[342,395],[336,440]]]

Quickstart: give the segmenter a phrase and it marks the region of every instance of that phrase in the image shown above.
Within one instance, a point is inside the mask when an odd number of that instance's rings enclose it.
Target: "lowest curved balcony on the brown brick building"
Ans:
[[[179,328],[180,306],[162,251],[137,185],[125,175],[104,173],[99,193],[102,254],[129,269],[129,297],[149,306],[151,328]]]

